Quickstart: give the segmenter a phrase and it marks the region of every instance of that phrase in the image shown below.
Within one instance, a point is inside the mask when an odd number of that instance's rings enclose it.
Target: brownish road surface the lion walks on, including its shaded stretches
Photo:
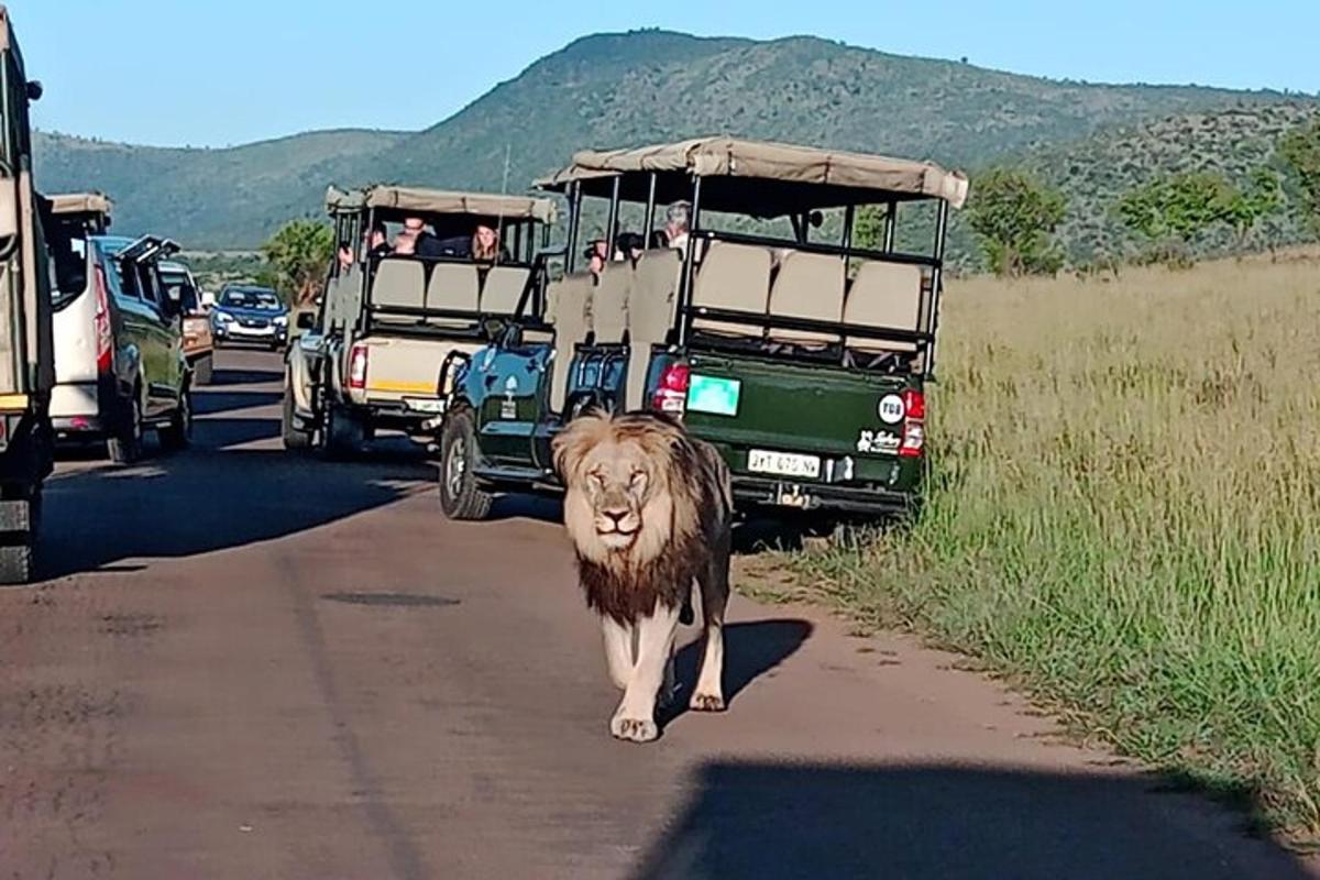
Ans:
[[[447,522],[405,443],[288,455],[279,360],[219,365],[193,450],[59,466],[0,591],[0,877],[1311,876],[813,612],[737,602],[730,711],[616,743],[552,504]]]

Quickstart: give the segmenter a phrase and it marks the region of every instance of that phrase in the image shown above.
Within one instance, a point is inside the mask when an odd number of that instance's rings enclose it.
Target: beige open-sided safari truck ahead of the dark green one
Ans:
[[[544,198],[376,186],[334,187],[326,208],[335,240],[352,252],[331,267],[317,313],[298,313],[284,388],[284,445],[359,450],[378,427],[422,439],[442,412],[441,375],[479,348],[487,318],[510,318],[532,285],[532,264],[554,222]],[[417,218],[425,253],[379,239]],[[492,260],[474,260],[478,226],[498,234]],[[372,230],[376,230],[372,247]]]

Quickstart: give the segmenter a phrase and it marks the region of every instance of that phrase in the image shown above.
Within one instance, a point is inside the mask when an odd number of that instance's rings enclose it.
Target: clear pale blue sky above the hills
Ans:
[[[1320,92],[1320,0],[8,0],[42,128],[160,145],[416,129],[576,37],[810,33],[1092,82]],[[399,9],[400,12],[392,12]],[[371,75],[337,73],[331,53]]]

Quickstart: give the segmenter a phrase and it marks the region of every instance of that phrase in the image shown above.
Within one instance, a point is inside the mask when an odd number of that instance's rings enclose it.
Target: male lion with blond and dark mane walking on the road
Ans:
[[[656,698],[673,689],[673,641],[693,582],[701,586],[706,646],[690,707],[725,707],[723,621],[729,603],[733,492],[709,443],[667,417],[591,413],[554,438],[564,524],[587,606],[601,615],[605,658],[623,701],[610,732],[660,735]]]

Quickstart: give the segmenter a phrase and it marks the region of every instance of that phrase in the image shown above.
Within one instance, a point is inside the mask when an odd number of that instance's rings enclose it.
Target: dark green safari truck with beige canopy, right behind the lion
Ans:
[[[566,274],[471,358],[445,414],[441,501],[553,487],[553,434],[586,406],[681,418],[727,460],[741,507],[891,515],[920,496],[925,383],[949,207],[962,174],[928,162],[704,139],[581,152],[539,183],[572,206]],[[678,247],[577,270],[583,199],[607,241],[685,202]],[[876,206],[879,241],[854,240]],[[921,253],[896,248],[900,220]],[[681,234],[681,228],[673,230]],[[541,310],[544,307],[544,311]],[[529,332],[553,331],[544,343]]]

